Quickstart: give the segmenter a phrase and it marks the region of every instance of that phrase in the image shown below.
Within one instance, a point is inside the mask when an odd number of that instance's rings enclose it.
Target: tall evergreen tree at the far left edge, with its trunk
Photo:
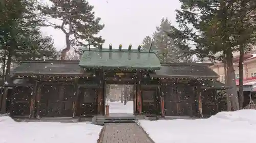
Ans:
[[[36,0],[6,0],[0,3],[0,52],[5,73],[3,81],[9,81],[11,63],[17,57],[33,52],[29,46],[31,37],[38,34],[38,26],[43,23],[36,14],[36,6]],[[6,99],[7,88],[2,93],[1,98]],[[2,103],[1,112],[5,113],[6,102]]]

